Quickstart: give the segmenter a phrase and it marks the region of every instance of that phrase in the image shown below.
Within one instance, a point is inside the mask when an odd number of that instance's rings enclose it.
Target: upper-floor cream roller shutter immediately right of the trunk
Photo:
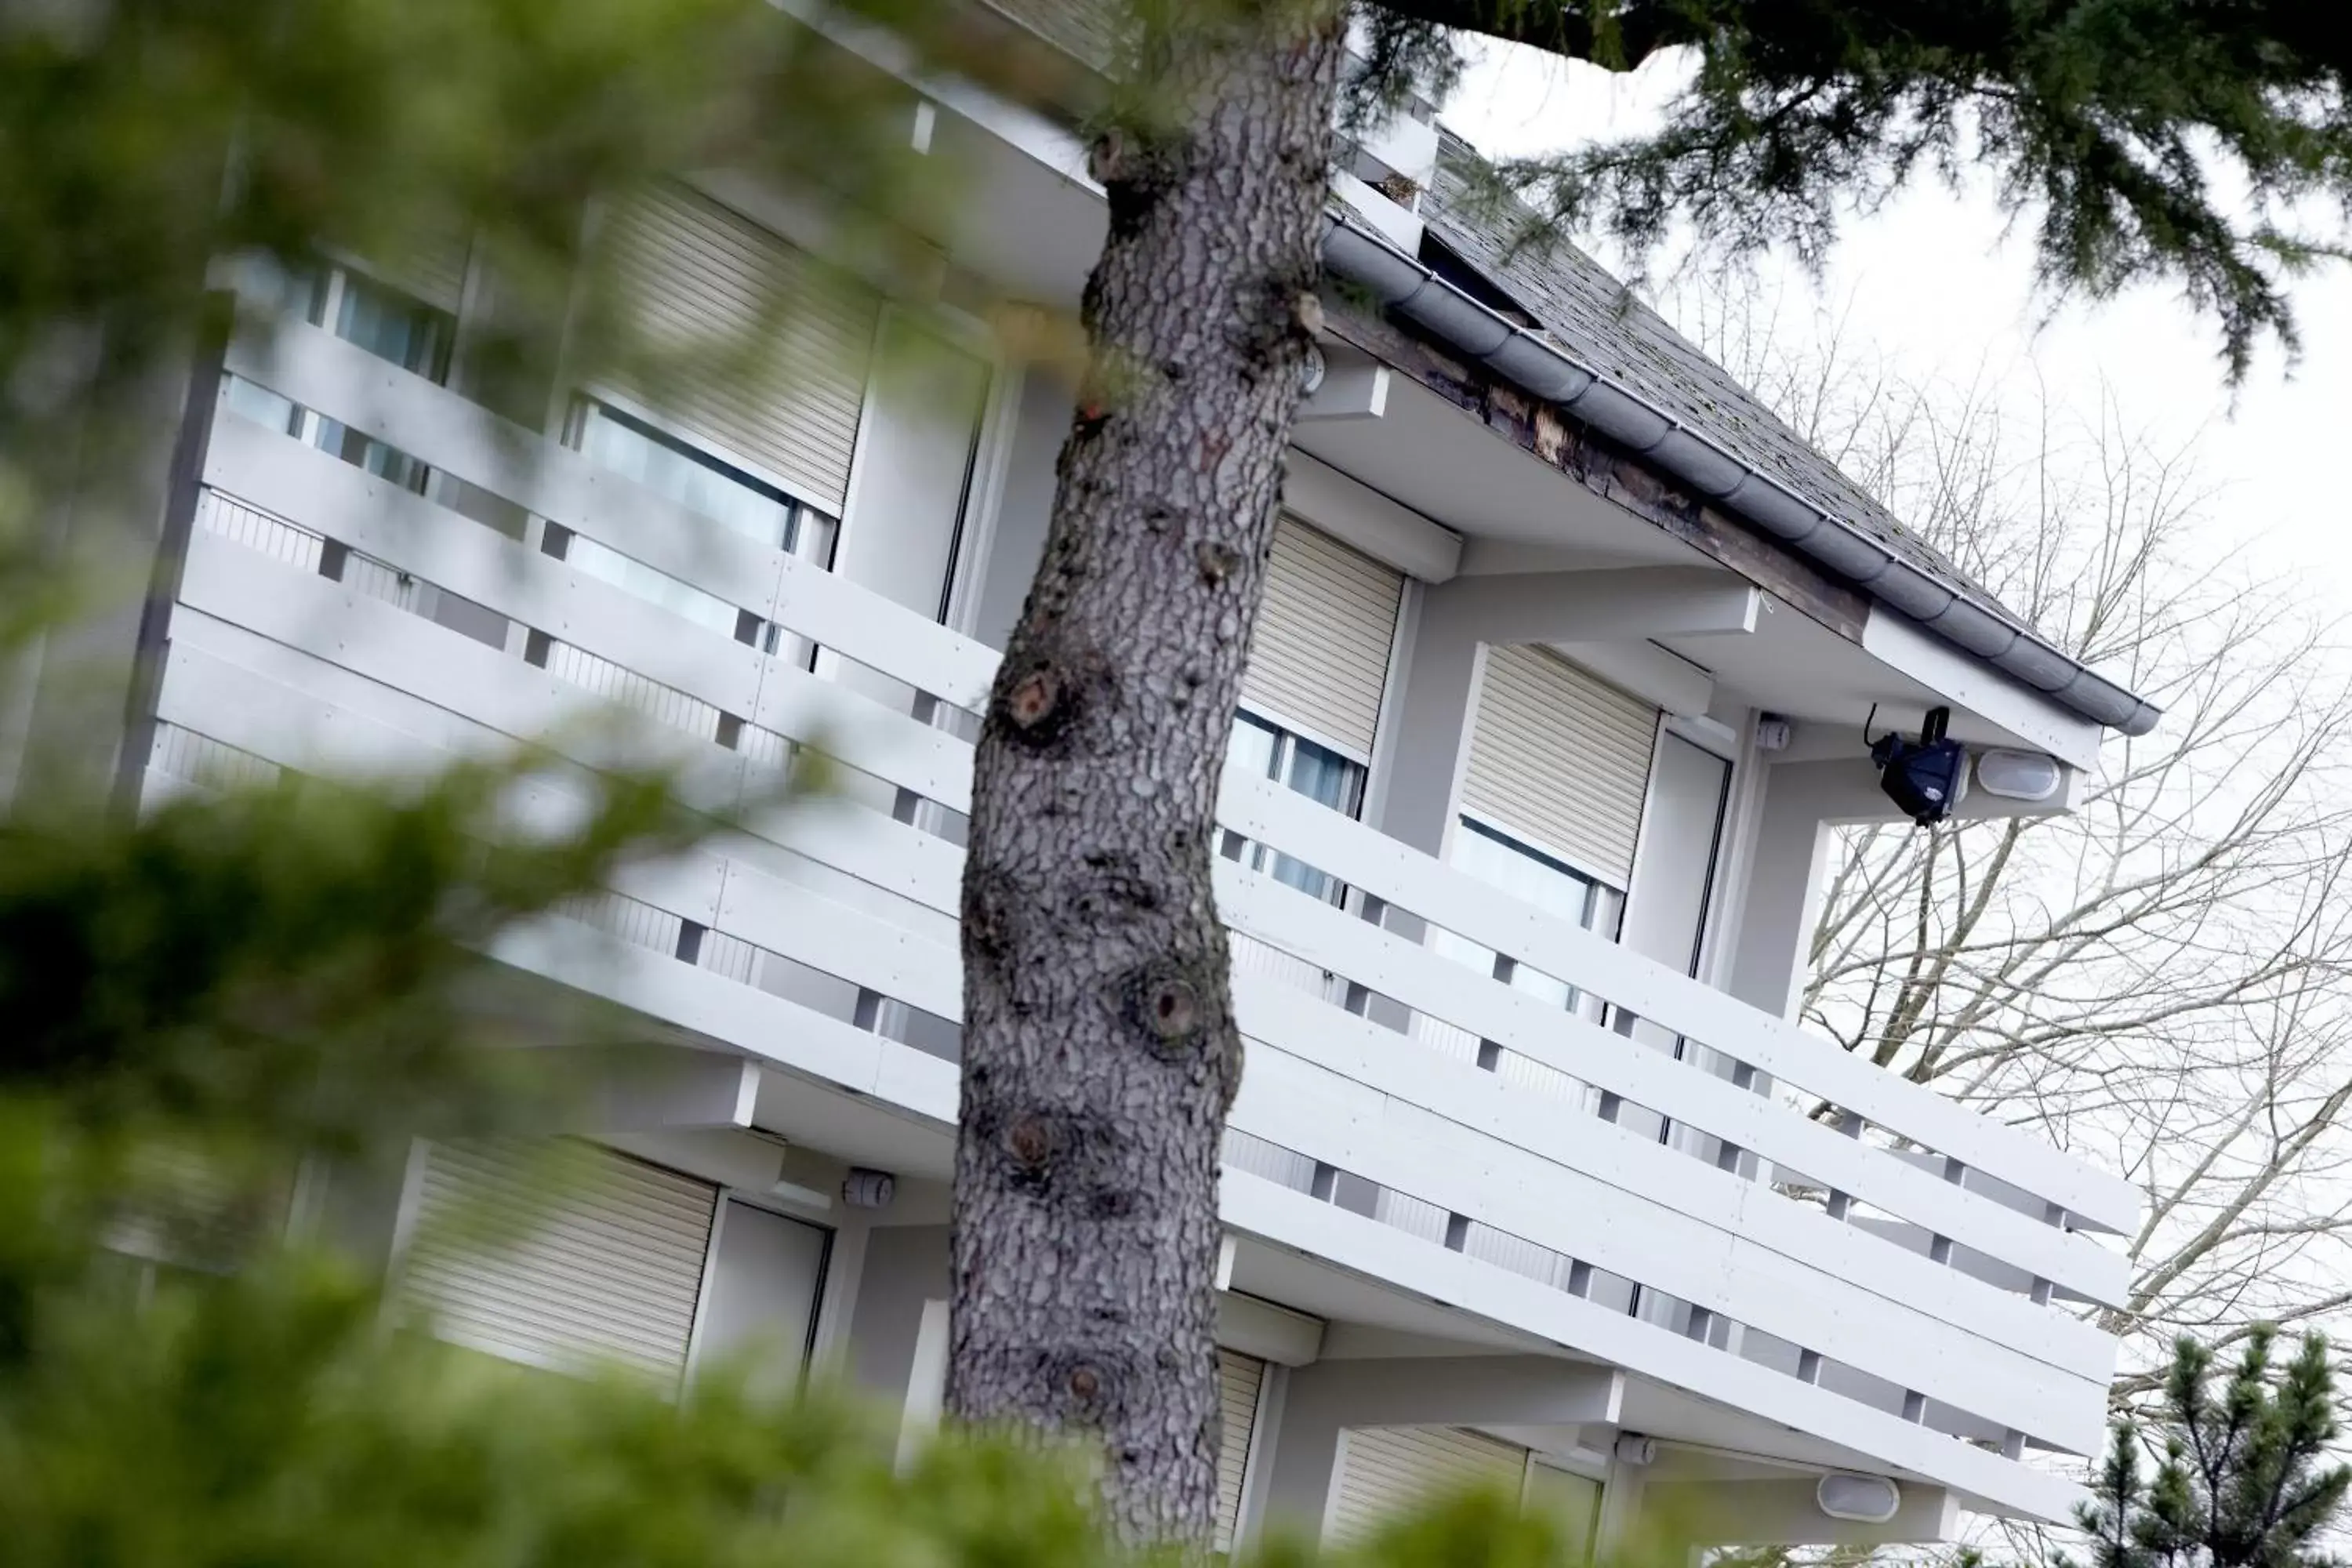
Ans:
[[[1242,701],[1371,755],[1404,574],[1296,517],[1275,524]]]

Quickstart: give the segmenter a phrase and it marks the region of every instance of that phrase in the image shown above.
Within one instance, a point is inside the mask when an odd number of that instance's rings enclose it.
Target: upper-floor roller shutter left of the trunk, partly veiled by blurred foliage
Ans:
[[[746,331],[764,353],[739,374],[666,388],[663,411],[767,468],[802,501],[842,510],[880,301],[807,252],[677,186],[616,202],[604,252],[661,353],[724,357]]]

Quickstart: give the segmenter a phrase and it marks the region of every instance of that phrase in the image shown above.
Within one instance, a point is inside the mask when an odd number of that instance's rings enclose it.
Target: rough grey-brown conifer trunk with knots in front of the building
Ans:
[[[1094,369],[978,745],[948,1408],[1098,1434],[1115,1523],[1207,1544],[1242,1070],[1214,804],[1319,320],[1343,21],[1197,9],[1167,113],[1096,146]]]

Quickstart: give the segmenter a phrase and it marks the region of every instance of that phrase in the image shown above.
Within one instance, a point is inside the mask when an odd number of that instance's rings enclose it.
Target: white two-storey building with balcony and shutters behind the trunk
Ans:
[[[687,327],[797,289],[767,381],[492,411],[463,242],[273,280],[282,324],[200,364],[169,433],[195,461],[118,745],[155,802],[546,736],[593,766],[619,724],[734,804],[821,741],[840,799],[496,954],[628,1009],[654,1063],[576,1128],[595,1178],[560,1213],[452,1244],[459,1206],[522,1201],[524,1150],[426,1143],[322,1213],[456,1342],[833,1375],[910,1441],[946,1359],[971,738],[1070,423],[955,301],[1068,306],[1103,226],[1068,127],[917,103],[985,200],[913,287],[840,284],[823,223],[743,179],[595,214]],[[1350,1540],[1458,1479],[1583,1542],[2063,1519],[2044,1455],[2100,1443],[2086,1309],[2124,1300],[2100,1237],[2133,1190],[1792,1013],[1830,827],[1893,816],[1872,710],[2013,755],[2027,785],[1971,813],[2065,809],[2103,729],[2154,715],[1656,317],[1595,310],[1597,268],[1512,254],[1451,155],[1406,115],[1336,176],[1327,259],[1376,303],[1334,294],[1223,785],[1221,1542]]]

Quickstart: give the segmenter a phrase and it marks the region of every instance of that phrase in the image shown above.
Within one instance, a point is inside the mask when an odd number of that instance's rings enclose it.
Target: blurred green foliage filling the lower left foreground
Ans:
[[[830,1394],[510,1366],[395,1326],[381,1258],[287,1239],[308,1161],[539,1126],[579,1079],[546,1046],[623,1039],[586,1001],[501,1006],[482,947],[713,823],[607,776],[522,832],[546,766],[0,830],[0,1561],[1145,1561],[1073,1450],[955,1436],[901,1472]],[[1534,1568],[1559,1542],[1463,1500],[1364,1561]]]

